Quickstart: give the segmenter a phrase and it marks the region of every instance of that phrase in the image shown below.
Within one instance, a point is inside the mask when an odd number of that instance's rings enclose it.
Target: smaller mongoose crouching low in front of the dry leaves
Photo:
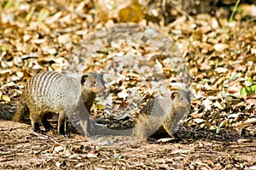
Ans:
[[[149,101],[137,118],[133,135],[138,139],[146,139],[164,129],[170,136],[175,137],[177,125],[187,113],[189,105],[189,92],[185,90],[172,91],[170,99],[155,98]]]

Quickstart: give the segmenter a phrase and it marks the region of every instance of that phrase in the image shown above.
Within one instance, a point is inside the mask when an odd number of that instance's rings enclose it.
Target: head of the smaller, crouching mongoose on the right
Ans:
[[[189,92],[185,90],[175,90],[171,93],[171,99],[175,105],[189,107],[191,100]]]

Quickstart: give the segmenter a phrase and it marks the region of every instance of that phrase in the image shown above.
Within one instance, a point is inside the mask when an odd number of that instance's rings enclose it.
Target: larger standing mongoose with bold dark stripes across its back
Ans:
[[[102,92],[104,88],[102,75],[95,72],[83,76],[55,71],[38,73],[26,82],[14,121],[22,122],[29,115],[33,131],[40,132],[39,122],[49,130],[51,125],[47,119],[59,113],[59,134],[65,134],[65,119],[68,117],[71,122],[79,122],[84,135],[89,136],[90,107],[96,93]]]

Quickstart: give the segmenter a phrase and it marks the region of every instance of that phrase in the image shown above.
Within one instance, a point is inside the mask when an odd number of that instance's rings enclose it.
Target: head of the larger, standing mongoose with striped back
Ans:
[[[85,73],[81,77],[81,84],[83,88],[94,93],[101,93],[105,89],[103,75],[96,72]]]

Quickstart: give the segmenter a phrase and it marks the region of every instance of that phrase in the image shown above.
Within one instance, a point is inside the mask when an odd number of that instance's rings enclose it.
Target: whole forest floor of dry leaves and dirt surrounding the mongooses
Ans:
[[[256,169],[255,5],[228,21],[226,6],[212,15],[173,8],[170,17],[157,3],[153,20],[136,4],[119,13],[65,2],[1,3],[0,169]],[[110,97],[96,99],[90,118],[108,126],[131,127],[147,99],[184,86],[189,116],[179,139],[34,133],[12,117],[39,71],[104,73]]]

